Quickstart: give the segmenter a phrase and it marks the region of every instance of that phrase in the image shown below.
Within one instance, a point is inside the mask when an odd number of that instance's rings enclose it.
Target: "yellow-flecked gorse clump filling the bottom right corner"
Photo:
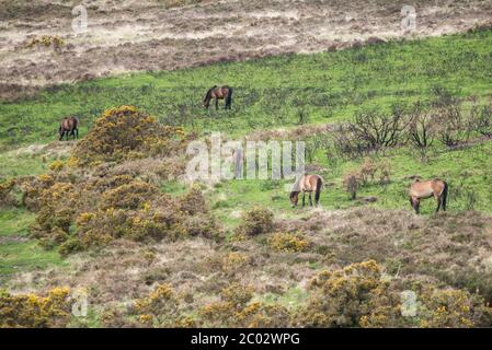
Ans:
[[[440,290],[426,281],[412,283],[413,315],[402,312],[403,285],[385,276],[374,260],[320,272],[298,325],[309,327],[484,327],[492,308],[464,290]]]

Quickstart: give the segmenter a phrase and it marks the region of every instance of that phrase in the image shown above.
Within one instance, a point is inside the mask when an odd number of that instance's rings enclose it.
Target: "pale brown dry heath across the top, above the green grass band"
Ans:
[[[91,1],[88,32],[76,34],[71,11],[79,1],[0,0],[0,97],[125,71],[334,50],[399,37],[408,1],[194,0],[199,3],[168,9],[169,2]],[[492,0],[412,3],[416,28],[411,35],[416,36],[465,31],[492,19]],[[42,35],[57,35],[65,45],[58,51],[26,47]]]

